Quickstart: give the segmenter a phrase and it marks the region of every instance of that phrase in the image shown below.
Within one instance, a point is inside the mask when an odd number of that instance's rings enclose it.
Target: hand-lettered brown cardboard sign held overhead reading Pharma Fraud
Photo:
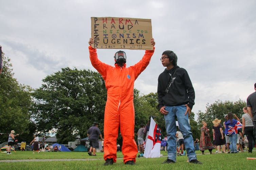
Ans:
[[[153,50],[151,19],[91,17],[93,48]]]

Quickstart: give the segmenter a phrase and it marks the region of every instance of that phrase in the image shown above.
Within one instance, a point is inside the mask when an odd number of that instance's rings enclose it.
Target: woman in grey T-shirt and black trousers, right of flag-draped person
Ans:
[[[247,113],[247,106],[243,107],[243,115],[242,115],[242,133],[246,136],[248,141],[248,152],[252,153],[253,149],[253,118],[249,113]],[[247,151],[247,150],[246,150]]]

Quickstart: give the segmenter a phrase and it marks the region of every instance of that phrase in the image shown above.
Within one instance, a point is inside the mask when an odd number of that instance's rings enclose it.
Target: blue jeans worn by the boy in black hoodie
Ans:
[[[176,162],[176,122],[175,116],[177,116],[180,131],[184,138],[184,145],[186,147],[188,161],[196,160],[196,152],[194,147],[194,140],[189,125],[188,113],[185,116],[186,106],[165,106],[165,110],[169,113],[164,115],[165,127],[167,131],[167,150],[168,159]]]

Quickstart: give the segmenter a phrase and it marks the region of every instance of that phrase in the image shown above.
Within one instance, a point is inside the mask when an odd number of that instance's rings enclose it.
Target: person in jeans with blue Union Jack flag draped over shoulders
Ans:
[[[225,122],[225,134],[230,140],[231,153],[237,153],[236,143],[237,143],[237,130],[242,128],[242,124],[233,119],[233,114],[230,112],[227,114],[227,121]]]

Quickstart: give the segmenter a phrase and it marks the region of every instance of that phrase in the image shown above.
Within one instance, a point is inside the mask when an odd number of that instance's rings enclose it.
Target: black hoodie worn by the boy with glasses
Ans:
[[[172,81],[170,82],[170,78]],[[168,88],[167,88],[168,87]],[[158,77],[158,108],[187,104],[192,109],[195,104],[195,91],[185,69],[179,66],[165,69]]]

